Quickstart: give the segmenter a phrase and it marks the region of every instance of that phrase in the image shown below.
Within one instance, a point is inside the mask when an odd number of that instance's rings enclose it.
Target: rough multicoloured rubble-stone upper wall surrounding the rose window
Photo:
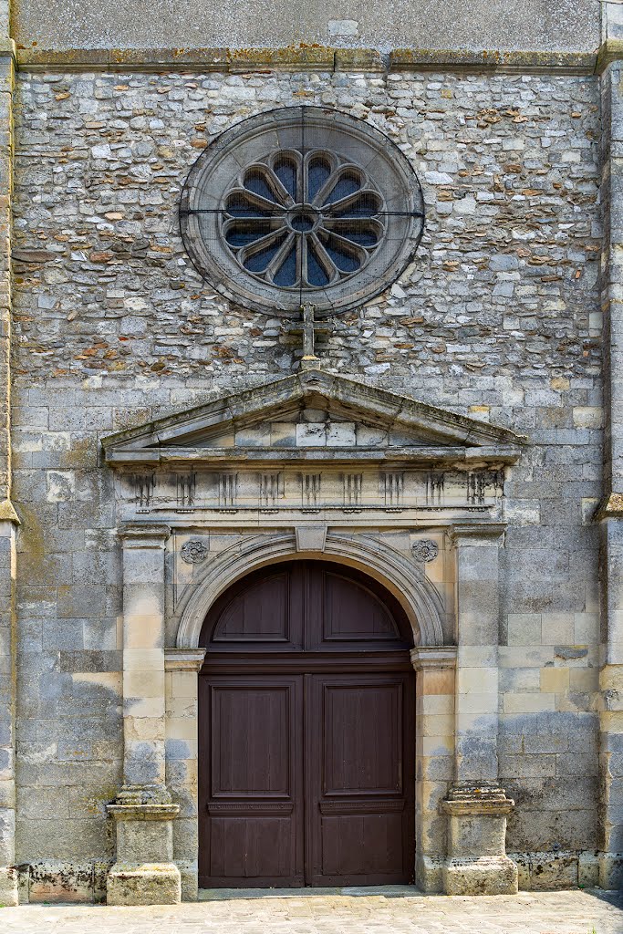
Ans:
[[[191,267],[177,205],[215,135],[297,104],[370,120],[412,158],[428,205],[401,283],[335,322],[336,368],[390,371],[397,387],[445,375],[448,399],[453,377],[468,389],[464,370],[586,375],[599,357],[597,82],[322,73],[21,74],[18,370],[194,376],[203,388],[290,372],[279,322],[233,311]]]

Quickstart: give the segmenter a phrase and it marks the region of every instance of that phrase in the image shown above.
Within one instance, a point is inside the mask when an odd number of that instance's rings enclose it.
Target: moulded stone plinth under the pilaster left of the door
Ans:
[[[166,789],[124,787],[108,805],[117,830],[117,861],[106,879],[108,905],[176,905],[180,876],[173,862],[173,820]]]

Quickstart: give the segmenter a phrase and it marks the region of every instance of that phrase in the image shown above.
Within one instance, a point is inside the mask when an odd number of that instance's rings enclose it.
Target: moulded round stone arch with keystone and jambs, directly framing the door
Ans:
[[[205,571],[194,584],[186,597],[182,597],[179,609],[179,623],[177,627],[177,648],[165,650],[165,667],[167,671],[175,672],[175,681],[179,685],[182,698],[167,698],[171,713],[175,713],[179,703],[191,703],[194,719],[188,718],[181,726],[180,742],[188,743],[188,736],[197,735],[196,702],[198,688],[198,672],[200,671],[205,649],[199,648],[200,633],[210,608],[218,601],[219,596],[231,587],[237,580],[245,577],[253,570],[259,570],[267,565],[287,562],[296,559],[318,559],[320,561],[338,562],[342,565],[360,570],[377,581],[382,587],[399,602],[404,616],[413,631],[413,642],[416,648],[412,651],[412,661],[418,677],[418,696],[428,690],[428,680],[435,681],[434,690],[438,701],[441,701],[440,692],[443,691],[448,699],[454,692],[454,657],[456,650],[444,647],[444,618],[443,601],[432,581],[423,573],[421,567],[408,559],[394,548],[379,541],[377,537],[361,533],[345,531],[327,531],[325,527],[304,526],[295,531],[273,531],[263,534],[248,535],[240,539],[234,546],[219,552],[213,560],[205,565]],[[438,647],[440,646],[440,647]],[[424,660],[423,660],[424,659]],[[442,674],[443,684],[439,673]],[[176,688],[174,688],[175,690]],[[417,706],[416,719],[418,722],[416,747],[417,761],[427,756],[427,751],[421,738],[432,733],[432,717],[436,714],[428,709]],[[431,721],[429,723],[429,721]],[[177,742],[177,720],[173,716],[167,718],[170,730],[170,742]],[[186,777],[177,787],[177,795],[188,801],[187,814],[182,814],[175,821],[174,833],[176,842],[176,861],[182,873],[182,885],[189,898],[191,892],[196,892],[197,884],[197,749],[196,741],[192,741],[191,758],[185,763]],[[438,750],[441,756],[452,756],[451,748]],[[174,769],[175,767],[175,769]],[[168,776],[167,765],[167,776]],[[179,771],[179,762],[173,763],[173,771]],[[418,773],[422,770],[418,766]],[[175,785],[167,777],[167,783]],[[430,783],[428,783],[430,784]],[[426,858],[431,848],[439,851],[442,846],[441,839],[444,830],[430,829],[430,815],[426,814],[422,803],[426,794],[426,785],[418,778],[416,782],[416,840],[419,852],[416,855],[418,865]],[[176,790],[176,789],[174,789]]]

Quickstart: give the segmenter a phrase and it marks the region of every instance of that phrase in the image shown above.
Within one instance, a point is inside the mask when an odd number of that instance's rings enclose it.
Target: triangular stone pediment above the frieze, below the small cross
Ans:
[[[344,376],[310,370],[104,439],[106,460],[480,460],[519,455],[514,432]]]

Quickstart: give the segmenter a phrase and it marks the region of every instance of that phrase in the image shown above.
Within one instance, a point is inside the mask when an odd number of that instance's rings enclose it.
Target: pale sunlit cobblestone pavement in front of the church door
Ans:
[[[224,893],[179,906],[23,905],[2,934],[623,934],[623,892],[448,898],[413,889]],[[359,890],[361,891],[361,890]]]

